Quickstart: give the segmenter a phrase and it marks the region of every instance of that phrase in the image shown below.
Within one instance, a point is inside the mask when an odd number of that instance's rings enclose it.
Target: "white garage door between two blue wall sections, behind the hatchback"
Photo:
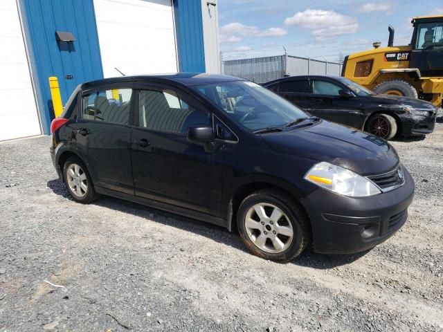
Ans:
[[[171,0],[94,0],[105,77],[177,71]]]

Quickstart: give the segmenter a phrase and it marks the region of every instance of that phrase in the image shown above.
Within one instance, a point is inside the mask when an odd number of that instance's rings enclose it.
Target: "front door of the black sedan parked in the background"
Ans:
[[[349,89],[338,82],[332,82],[332,80],[314,78],[311,98],[316,102],[310,113],[325,120],[361,129],[365,119],[361,102],[355,96],[342,96],[341,90]]]

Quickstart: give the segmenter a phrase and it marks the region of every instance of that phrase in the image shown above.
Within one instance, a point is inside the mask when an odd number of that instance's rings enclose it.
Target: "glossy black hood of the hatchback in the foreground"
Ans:
[[[327,161],[361,174],[383,174],[399,163],[395,149],[377,136],[341,124],[317,122],[262,135],[271,149]]]

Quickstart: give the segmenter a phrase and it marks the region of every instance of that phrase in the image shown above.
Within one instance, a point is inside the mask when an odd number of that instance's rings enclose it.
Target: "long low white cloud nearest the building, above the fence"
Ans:
[[[242,37],[278,37],[287,35],[287,33],[284,28],[260,30],[257,26],[246,26],[239,22],[233,22],[221,26],[219,38],[221,43],[235,43],[241,42]]]

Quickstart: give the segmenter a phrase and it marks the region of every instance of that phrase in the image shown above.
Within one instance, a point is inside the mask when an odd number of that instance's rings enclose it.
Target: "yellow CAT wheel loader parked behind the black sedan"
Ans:
[[[373,44],[345,57],[342,76],[376,93],[420,98],[442,107],[443,15],[415,17],[408,46],[394,46],[394,28],[389,26],[388,47]]]

